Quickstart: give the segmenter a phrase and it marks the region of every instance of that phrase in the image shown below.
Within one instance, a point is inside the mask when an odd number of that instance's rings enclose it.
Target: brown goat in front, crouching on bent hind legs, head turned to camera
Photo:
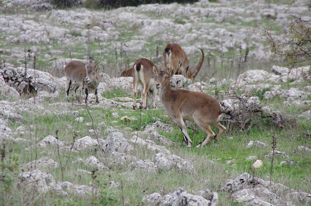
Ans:
[[[205,145],[212,138],[218,140],[225,132],[225,127],[219,121],[223,114],[232,116],[231,112],[222,111],[218,101],[205,93],[185,89],[173,90],[170,79],[175,68],[170,70],[167,67],[164,71],[153,68],[153,72],[156,75],[155,86],[159,89],[160,100],[167,114],[180,127],[187,147],[191,147],[192,141],[187,133],[184,120],[194,121],[207,135],[196,147]],[[216,137],[209,125],[218,129]]]

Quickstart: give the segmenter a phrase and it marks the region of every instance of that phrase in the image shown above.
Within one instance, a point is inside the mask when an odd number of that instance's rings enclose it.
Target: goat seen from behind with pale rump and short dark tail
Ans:
[[[151,91],[153,94],[153,107],[155,108],[155,100],[157,89],[155,88],[155,74],[153,68],[157,69],[152,61],[149,59],[140,58],[133,64],[133,86],[134,86],[134,98],[133,109],[136,108],[137,86],[141,85],[141,102],[139,108],[148,109],[147,107],[147,93]],[[143,86],[143,88],[142,88]]]

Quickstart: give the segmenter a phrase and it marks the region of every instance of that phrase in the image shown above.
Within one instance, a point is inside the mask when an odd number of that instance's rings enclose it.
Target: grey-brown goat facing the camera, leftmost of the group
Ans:
[[[86,65],[83,62],[79,61],[71,61],[67,65],[64,66],[66,78],[67,78],[67,87],[66,87],[66,97],[68,99],[69,89],[71,83],[72,89],[76,93],[77,88],[79,86],[83,86],[83,90],[85,93],[85,103],[87,103],[88,90],[94,90],[95,100],[98,103],[97,98],[97,87],[101,82],[101,76],[99,75],[99,70],[101,66],[96,66],[99,64],[95,64],[94,66]]]

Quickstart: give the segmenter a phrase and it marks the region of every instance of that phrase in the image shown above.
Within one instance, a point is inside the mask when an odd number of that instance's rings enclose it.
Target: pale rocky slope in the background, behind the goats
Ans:
[[[91,55],[93,61],[101,61],[105,73],[115,77],[140,57],[160,64],[166,44],[178,42],[192,65],[200,58],[198,48],[217,57],[217,63],[222,61],[218,57],[221,53],[228,61],[238,59],[239,50],[245,51],[248,44],[248,61],[254,62],[250,67],[269,69],[262,68],[273,59],[264,49],[261,29],[274,20],[274,34],[282,36],[290,14],[310,15],[307,0],[297,1],[287,13],[287,4],[265,0],[200,0],[194,4],[149,4],[104,12],[86,8],[55,10],[49,2],[2,1],[0,58],[4,65],[23,66],[25,56],[35,55],[41,61],[37,64],[40,70],[61,77],[63,66],[72,58],[86,60]],[[203,67],[209,64],[212,62],[205,61]],[[201,73],[208,72],[202,69]]]

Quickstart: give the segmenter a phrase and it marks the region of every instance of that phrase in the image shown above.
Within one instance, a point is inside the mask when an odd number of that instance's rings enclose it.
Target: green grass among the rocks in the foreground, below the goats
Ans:
[[[112,95],[113,94],[113,95]],[[104,94],[105,97],[124,96],[120,91],[112,91]],[[125,95],[126,96],[126,95]],[[60,102],[60,103],[59,103]],[[32,135],[21,134],[19,137],[31,139],[33,143],[14,143],[7,140],[5,145],[2,144],[1,151],[5,151],[5,155],[1,160],[1,168],[6,172],[5,181],[1,182],[1,193],[4,196],[4,205],[90,205],[92,202],[97,205],[96,200],[92,195],[86,197],[76,197],[69,194],[69,199],[65,200],[61,196],[55,196],[53,192],[48,194],[37,194],[34,190],[20,188],[17,184],[18,174],[25,168],[22,166],[29,163],[31,160],[39,159],[48,156],[59,163],[62,162],[63,176],[61,168],[58,169],[42,169],[43,172],[51,173],[56,181],[69,181],[77,185],[89,185],[93,183],[96,189],[102,193],[99,199],[107,200],[111,205],[136,206],[141,205],[142,197],[153,192],[167,194],[175,191],[179,187],[195,194],[198,190],[212,189],[219,191],[225,184],[228,178],[235,178],[242,172],[249,172],[264,180],[270,179],[271,159],[264,156],[268,151],[272,150],[272,139],[275,134],[276,150],[285,152],[289,155],[291,161],[296,162],[294,166],[279,166],[283,158],[275,157],[272,181],[284,184],[290,188],[311,193],[310,173],[311,173],[311,153],[297,150],[299,145],[310,145],[311,139],[304,134],[304,131],[311,130],[311,125],[304,119],[297,119],[297,124],[290,124],[285,129],[278,129],[271,121],[263,120],[260,117],[254,116],[253,124],[248,128],[235,128],[227,124],[223,124],[230,128],[219,141],[208,143],[202,149],[186,148],[182,145],[182,135],[178,126],[166,117],[166,112],[162,108],[155,110],[133,111],[130,108],[109,108],[103,109],[99,107],[89,107],[87,112],[86,106],[75,104],[60,104],[65,102],[65,91],[62,92],[58,100],[45,101],[43,103],[45,109],[53,111],[78,111],[79,117],[83,117],[83,122],[75,121],[75,116],[67,115],[46,115],[41,117],[43,110],[31,110],[24,112],[22,116],[26,119],[25,122],[18,123],[12,121],[9,125],[11,129],[16,129],[18,126],[24,125],[27,131],[32,131]],[[65,108],[66,107],[66,108]],[[60,109],[61,108],[61,109]],[[287,108],[295,113],[296,108]],[[136,120],[122,121],[120,118],[112,117],[112,113],[117,112],[120,117],[129,116],[135,117]],[[92,119],[91,119],[92,117]],[[155,118],[153,118],[155,117]],[[84,164],[73,164],[77,158],[86,159],[90,155],[96,156],[105,166],[110,162],[107,154],[103,154],[100,150],[89,150],[85,152],[69,153],[61,152],[58,155],[56,147],[39,148],[35,147],[35,142],[42,140],[48,135],[57,137],[60,141],[72,143],[75,139],[85,137],[88,130],[92,126],[86,126],[86,122],[93,120],[95,128],[100,122],[105,122],[107,126],[114,126],[125,134],[126,138],[131,138],[131,132],[140,130],[148,124],[160,120],[173,125],[172,132],[159,132],[161,135],[176,142],[176,146],[167,147],[172,154],[176,154],[184,159],[190,160],[194,166],[193,172],[181,172],[175,169],[171,171],[159,171],[155,174],[148,172],[135,172],[130,174],[131,169],[128,167],[112,167],[108,171],[95,171],[94,175],[78,172],[78,169],[94,171],[93,168]],[[112,123],[117,121],[117,123]],[[67,125],[71,125],[73,129],[69,129]],[[30,129],[33,125],[33,129]],[[190,138],[194,145],[198,144],[204,137],[202,130],[193,124],[188,125],[192,129],[188,129]],[[131,129],[126,129],[131,128]],[[194,129],[194,130],[193,130]],[[214,128],[212,128],[214,130]],[[79,131],[78,133],[73,130]],[[214,130],[215,131],[215,130]],[[216,131],[215,131],[216,132]],[[106,137],[104,130],[100,130],[99,137]],[[146,136],[147,137],[147,136]],[[142,137],[142,138],[146,138]],[[228,138],[232,137],[232,138]],[[95,137],[94,137],[95,138]],[[265,148],[246,148],[248,142],[262,141],[268,146]],[[32,150],[26,150],[30,148]],[[4,149],[4,150],[3,150]],[[145,148],[136,146],[135,150],[129,154],[135,155],[138,159],[152,159],[153,154]],[[3,154],[3,153],[2,153]],[[263,161],[263,167],[259,169],[251,169],[251,164],[255,160],[245,161],[248,156],[256,155],[257,159]],[[3,155],[2,155],[3,156]],[[214,163],[210,162],[213,161]],[[227,161],[231,160],[231,163]],[[4,165],[4,166],[3,166]],[[107,183],[116,181],[121,184],[121,188],[112,189],[107,187]],[[219,205],[238,205],[232,202],[228,193],[219,191]],[[17,195],[18,194],[18,195]],[[23,198],[22,198],[23,196]],[[121,198],[122,197],[122,198]]]

